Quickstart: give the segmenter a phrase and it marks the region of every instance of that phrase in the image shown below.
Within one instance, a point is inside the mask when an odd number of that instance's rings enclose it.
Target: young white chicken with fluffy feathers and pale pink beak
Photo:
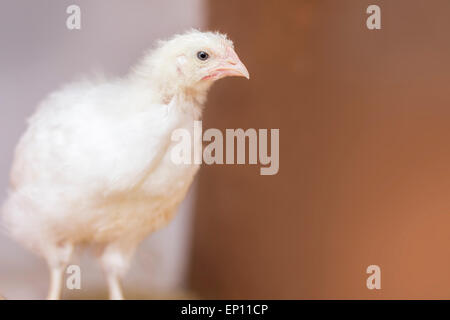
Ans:
[[[198,170],[175,164],[176,128],[193,130],[211,84],[249,78],[225,35],[191,30],[124,78],[52,93],[29,119],[3,206],[10,235],[43,256],[59,299],[77,245],[96,248],[111,299],[139,243],[172,218]]]

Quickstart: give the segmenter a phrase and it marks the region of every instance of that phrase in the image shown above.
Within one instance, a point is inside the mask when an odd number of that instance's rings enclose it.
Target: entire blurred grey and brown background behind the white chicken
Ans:
[[[65,27],[68,5],[82,28]],[[366,8],[381,8],[368,30]],[[211,90],[204,128],[279,128],[280,170],[207,166],[149,237],[128,297],[450,298],[448,0],[23,1],[0,4],[0,189],[24,120],[78,75],[123,75],[190,27],[233,39],[250,81]],[[82,290],[106,288],[89,257]],[[366,268],[381,267],[381,290]],[[0,238],[0,294],[42,298],[43,261]]]

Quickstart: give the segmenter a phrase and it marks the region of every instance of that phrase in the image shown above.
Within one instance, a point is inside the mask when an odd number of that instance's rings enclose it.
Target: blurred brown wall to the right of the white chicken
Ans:
[[[280,171],[203,166],[193,289],[450,298],[450,2],[208,4],[251,80],[213,88],[204,128],[280,128]],[[381,290],[366,288],[371,264]]]

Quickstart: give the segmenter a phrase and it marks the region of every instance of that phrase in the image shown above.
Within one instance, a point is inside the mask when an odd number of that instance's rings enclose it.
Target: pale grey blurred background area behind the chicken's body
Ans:
[[[66,28],[66,8],[71,4],[81,7],[79,31]],[[201,27],[203,9],[202,0],[1,0],[0,200],[6,195],[14,146],[40,100],[82,75],[98,71],[125,74],[156,39]],[[183,214],[141,247],[127,286],[146,293],[152,288],[172,292],[184,287],[190,201],[192,192],[181,208]],[[78,262],[82,289],[104,288],[93,260],[83,255]],[[43,298],[47,282],[45,263],[1,234],[0,294]]]

